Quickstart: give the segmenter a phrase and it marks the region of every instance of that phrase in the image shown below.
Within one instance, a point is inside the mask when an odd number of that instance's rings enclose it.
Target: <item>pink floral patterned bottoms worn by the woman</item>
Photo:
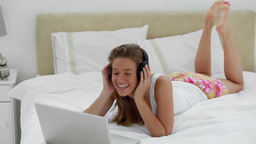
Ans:
[[[221,97],[229,92],[228,88],[226,88],[221,81],[199,73],[175,72],[167,74],[167,77],[169,77],[171,81],[188,82],[199,87],[203,93],[206,94],[208,99]]]

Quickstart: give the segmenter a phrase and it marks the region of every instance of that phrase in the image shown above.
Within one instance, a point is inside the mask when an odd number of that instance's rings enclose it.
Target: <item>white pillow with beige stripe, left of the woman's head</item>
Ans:
[[[101,71],[114,47],[145,40],[147,32],[148,25],[116,31],[52,33],[54,73]]]

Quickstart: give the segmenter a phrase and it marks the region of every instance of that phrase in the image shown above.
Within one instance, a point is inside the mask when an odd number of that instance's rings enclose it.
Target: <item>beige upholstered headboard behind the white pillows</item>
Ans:
[[[39,14],[37,17],[37,69],[54,74],[51,33],[113,31],[148,24],[147,39],[185,34],[203,28],[206,11],[137,11],[108,13]],[[254,71],[255,12],[231,11],[230,26],[242,67]]]

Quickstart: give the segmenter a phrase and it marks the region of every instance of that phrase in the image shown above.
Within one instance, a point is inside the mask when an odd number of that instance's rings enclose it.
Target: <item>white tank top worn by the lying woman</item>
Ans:
[[[155,82],[159,76],[163,74],[154,74],[151,78],[150,85],[150,103],[152,106],[152,112],[156,116],[157,104],[155,102],[154,90]],[[173,109],[174,116],[187,111],[195,104],[200,101],[207,100],[205,93],[201,89],[191,83],[182,81],[172,81],[172,91],[173,91]]]

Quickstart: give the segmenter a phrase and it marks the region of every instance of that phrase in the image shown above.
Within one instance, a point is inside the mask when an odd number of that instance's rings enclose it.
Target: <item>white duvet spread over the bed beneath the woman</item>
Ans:
[[[256,73],[243,71],[245,87],[236,94],[202,101],[174,117],[172,135],[150,137],[144,127],[117,126],[111,133],[141,143],[256,143]],[[225,78],[224,74],[214,78]],[[34,101],[82,112],[100,95],[101,72],[40,76],[21,82],[8,95],[21,100],[21,144],[45,143]],[[112,113],[106,117],[111,118]],[[85,142],[86,143],[86,142]]]

